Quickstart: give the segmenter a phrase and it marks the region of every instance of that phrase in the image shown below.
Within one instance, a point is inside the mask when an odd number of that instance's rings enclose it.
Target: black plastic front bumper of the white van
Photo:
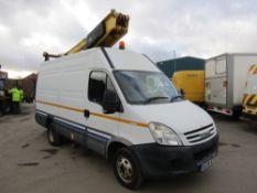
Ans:
[[[147,143],[132,146],[131,149],[144,178],[171,176],[200,171],[204,163],[217,156],[218,136],[195,146]]]

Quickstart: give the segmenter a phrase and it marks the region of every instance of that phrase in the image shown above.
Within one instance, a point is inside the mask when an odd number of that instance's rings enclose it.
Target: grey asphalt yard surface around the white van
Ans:
[[[0,193],[132,192],[116,181],[101,157],[71,143],[53,148],[34,121],[34,106],[0,117]],[[137,192],[254,193],[257,191],[257,125],[212,115],[219,153],[204,173],[147,182]]]

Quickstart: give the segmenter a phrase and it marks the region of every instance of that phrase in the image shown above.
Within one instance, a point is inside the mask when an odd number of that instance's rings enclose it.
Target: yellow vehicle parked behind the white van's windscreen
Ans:
[[[185,99],[196,104],[204,103],[204,71],[180,71],[171,78]]]

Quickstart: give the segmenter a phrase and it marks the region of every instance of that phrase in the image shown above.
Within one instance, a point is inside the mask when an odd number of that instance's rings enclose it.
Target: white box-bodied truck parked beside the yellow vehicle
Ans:
[[[208,110],[239,117],[248,68],[257,53],[226,53],[205,62],[205,103]]]

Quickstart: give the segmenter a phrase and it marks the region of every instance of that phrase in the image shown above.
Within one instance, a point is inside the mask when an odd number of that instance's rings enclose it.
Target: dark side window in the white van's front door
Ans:
[[[101,105],[106,89],[115,92],[109,76],[105,72],[92,72],[88,84],[88,99]]]

